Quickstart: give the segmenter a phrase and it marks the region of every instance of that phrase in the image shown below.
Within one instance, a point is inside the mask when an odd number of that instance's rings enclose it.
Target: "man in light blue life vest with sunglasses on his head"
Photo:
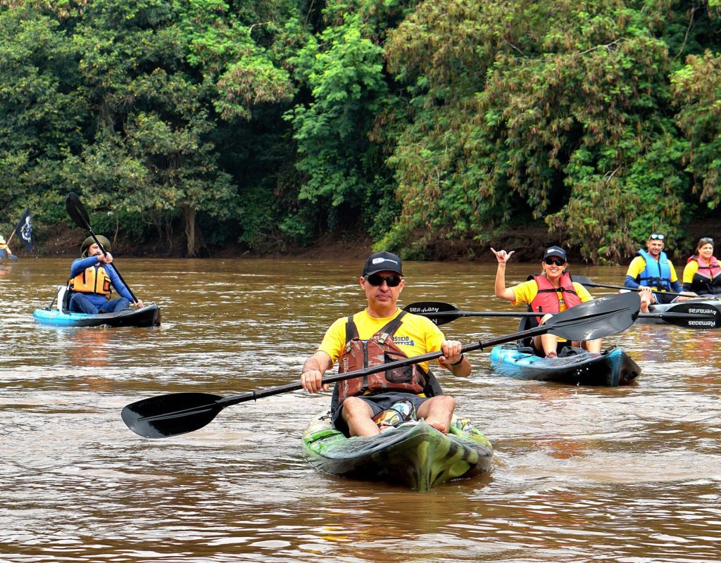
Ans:
[[[646,241],[647,250],[640,249],[629,264],[624,286],[640,290],[641,312],[647,313],[653,303],[671,303],[676,296],[663,295],[666,291],[681,293],[684,288],[678,281],[676,269],[663,252],[665,235],[651,233]]]

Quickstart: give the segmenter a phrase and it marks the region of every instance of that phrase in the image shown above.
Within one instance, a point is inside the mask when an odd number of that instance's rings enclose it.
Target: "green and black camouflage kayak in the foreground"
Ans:
[[[428,491],[439,483],[490,471],[490,441],[468,420],[454,418],[448,434],[425,421],[405,422],[371,438],[346,438],[326,413],[303,435],[311,465],[331,475],[404,484]]]

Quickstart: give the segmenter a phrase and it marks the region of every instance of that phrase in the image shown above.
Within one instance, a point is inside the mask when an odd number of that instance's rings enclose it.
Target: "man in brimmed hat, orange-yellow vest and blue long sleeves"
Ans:
[[[74,260],[70,267],[70,311],[87,314],[116,313],[130,309],[131,303],[135,307],[142,307],[143,301],[133,301],[130,291],[111,265],[110,241],[102,235],[95,238],[102,244],[102,249],[92,236],[89,236],[80,247],[80,257]],[[111,286],[120,297],[110,298]]]

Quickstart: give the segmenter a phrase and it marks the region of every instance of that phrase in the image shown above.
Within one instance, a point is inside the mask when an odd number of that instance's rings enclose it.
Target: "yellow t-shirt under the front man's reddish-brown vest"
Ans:
[[[358,329],[358,337],[361,340],[368,340],[399,314],[401,314],[400,309],[392,316],[376,319],[368,314],[368,309],[363,309],[353,315],[353,322]],[[335,363],[345,350],[346,322],[348,322],[348,318],[344,316],[331,324],[318,348],[330,356],[332,363]],[[443,332],[430,319],[410,313],[403,317],[401,326],[393,336],[394,344],[409,358],[441,350],[443,340],[446,340]],[[428,362],[422,362],[419,365],[423,370],[428,371]]]

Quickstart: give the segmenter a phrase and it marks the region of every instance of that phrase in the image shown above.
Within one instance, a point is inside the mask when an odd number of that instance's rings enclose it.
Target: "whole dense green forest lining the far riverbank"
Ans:
[[[721,0],[0,0],[0,232],[41,247],[72,191],[187,256],[543,226],[616,262],[720,170]]]

